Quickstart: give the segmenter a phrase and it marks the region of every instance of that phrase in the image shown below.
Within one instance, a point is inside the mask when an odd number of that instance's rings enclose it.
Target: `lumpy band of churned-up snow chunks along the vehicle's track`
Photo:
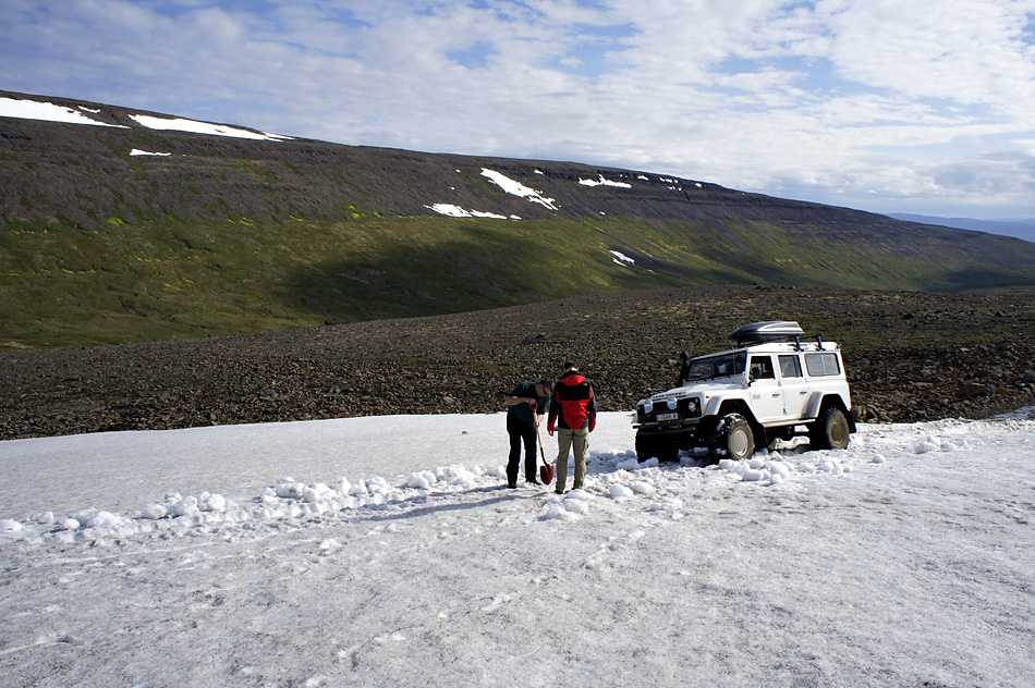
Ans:
[[[619,421],[625,418],[624,414],[613,416]],[[945,430],[950,428],[952,426],[945,426]],[[878,429],[866,430],[866,434],[874,432],[879,437]],[[911,443],[909,451],[926,454],[966,449],[965,437],[953,441],[927,431]],[[794,488],[808,477],[843,476],[856,470],[860,465],[882,464],[887,460],[879,453],[861,455],[857,450],[807,450],[807,444],[797,440],[782,453],[762,450],[743,462],[720,459],[709,466],[706,456],[684,453],[679,466],[662,466],[657,459],[641,464],[632,450],[601,452],[590,449],[585,489],[570,491],[563,496],[553,493],[553,486],[539,489],[544,503],[538,517],[577,519],[592,513],[598,497],[609,497],[617,502],[618,507],[666,512],[679,518],[685,515],[687,508],[693,508],[687,507],[687,502],[699,489],[698,481],[702,478],[707,483],[747,482],[767,488]],[[5,540],[96,544],[105,539],[168,537],[170,533],[187,535],[192,531],[206,533],[215,529],[226,531],[245,523],[254,527],[263,521],[303,517],[342,519],[362,509],[386,505],[405,508],[428,496],[455,495],[462,499],[464,492],[499,488],[501,483],[506,483],[506,466],[502,464],[489,468],[475,465],[470,469],[462,465],[439,466],[415,471],[397,484],[383,476],[360,478],[355,482],[341,476],[333,479],[330,486],[325,482],[305,483],[284,477],[243,502],[209,491],[186,496],[173,492],[126,514],[90,507],[64,515],[45,511],[22,519],[3,518],[0,519],[0,545]]]

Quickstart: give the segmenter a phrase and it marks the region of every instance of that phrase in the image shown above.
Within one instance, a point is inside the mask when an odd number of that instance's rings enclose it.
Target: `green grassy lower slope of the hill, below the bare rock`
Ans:
[[[106,231],[9,224],[0,232],[0,347],[271,331],[705,282],[961,286],[943,258],[879,245],[802,247],[763,223],[352,214],[267,224],[112,217]],[[640,267],[617,265],[610,249]]]

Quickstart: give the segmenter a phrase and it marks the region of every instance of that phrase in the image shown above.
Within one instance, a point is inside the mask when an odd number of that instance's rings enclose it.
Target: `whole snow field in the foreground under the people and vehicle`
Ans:
[[[503,487],[502,415],[0,443],[0,684],[1031,685],[1035,421],[716,466],[632,437],[601,414],[564,495]]]

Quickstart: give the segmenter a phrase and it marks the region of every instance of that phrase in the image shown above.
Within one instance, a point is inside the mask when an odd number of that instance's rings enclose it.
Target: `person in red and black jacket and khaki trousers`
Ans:
[[[557,430],[557,493],[564,494],[568,484],[568,452],[575,455],[574,489],[582,488],[586,477],[586,452],[589,433],[597,425],[597,404],[593,386],[579,372],[575,364],[564,364],[564,374],[553,385],[547,432]]]

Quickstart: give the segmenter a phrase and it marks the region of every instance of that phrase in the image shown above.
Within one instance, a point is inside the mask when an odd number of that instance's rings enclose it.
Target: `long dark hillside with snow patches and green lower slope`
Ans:
[[[0,93],[0,189],[8,348],[706,283],[1035,284],[1035,245],[1014,238],[650,172],[344,146],[24,94]]]

